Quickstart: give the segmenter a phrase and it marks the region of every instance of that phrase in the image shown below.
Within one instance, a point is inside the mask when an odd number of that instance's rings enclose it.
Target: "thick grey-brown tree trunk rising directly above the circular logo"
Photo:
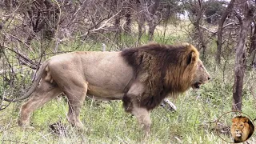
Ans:
[[[242,83],[246,62],[246,36],[250,22],[252,22],[252,18],[254,17],[254,11],[250,6],[246,6],[245,10],[246,17],[243,20],[242,18],[238,18],[240,21],[240,34],[236,46],[232,110],[242,110]]]

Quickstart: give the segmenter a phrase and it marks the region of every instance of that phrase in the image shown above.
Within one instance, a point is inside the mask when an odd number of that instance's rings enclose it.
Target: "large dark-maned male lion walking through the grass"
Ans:
[[[148,44],[121,52],[80,51],[55,55],[40,66],[34,85],[17,102],[32,94],[22,105],[19,126],[29,126],[30,114],[38,107],[66,94],[67,120],[82,128],[79,114],[86,94],[103,100],[122,100],[148,133],[150,110],[169,94],[180,94],[190,87],[199,89],[210,74],[190,45]]]

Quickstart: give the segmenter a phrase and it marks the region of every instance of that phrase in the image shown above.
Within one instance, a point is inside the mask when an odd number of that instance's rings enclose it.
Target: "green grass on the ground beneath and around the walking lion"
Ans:
[[[151,113],[150,138],[146,143],[226,143],[213,130],[214,122],[222,114],[230,111],[232,82],[222,83],[219,70],[209,69],[214,80],[201,90],[189,90],[177,99],[170,100],[178,107],[170,112],[162,107]],[[253,73],[253,72],[250,72]],[[252,84],[255,74],[247,74],[245,81]],[[226,78],[231,78],[226,75]],[[255,83],[254,83],[255,84]],[[250,85],[254,86],[254,85]],[[242,110],[256,118],[256,100],[250,94],[250,86],[245,86]],[[22,130],[16,121],[20,103],[14,103],[0,114],[0,142],[2,143],[142,143],[143,131],[136,118],[126,114],[122,102],[95,102],[87,99],[82,108],[81,119],[85,129],[78,131],[66,121],[67,104],[65,98],[54,99],[32,115],[34,130]],[[66,127],[67,136],[54,134],[49,126],[61,121]],[[208,127],[207,127],[208,126]],[[250,138],[255,141],[256,136]]]

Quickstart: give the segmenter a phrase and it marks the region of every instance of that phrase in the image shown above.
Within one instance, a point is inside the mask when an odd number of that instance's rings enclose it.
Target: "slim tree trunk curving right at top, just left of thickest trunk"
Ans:
[[[226,20],[226,17],[230,14],[231,10],[233,10],[234,2],[235,0],[230,1],[225,12],[222,14],[222,18],[218,22],[218,39],[217,39],[217,53],[216,53],[216,62],[218,64],[220,64],[221,62],[221,54],[222,54],[222,27]]]

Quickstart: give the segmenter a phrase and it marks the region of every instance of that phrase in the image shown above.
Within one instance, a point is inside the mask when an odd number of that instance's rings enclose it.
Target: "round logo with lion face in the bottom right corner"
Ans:
[[[234,110],[222,114],[215,128],[223,141],[240,143],[245,142],[254,134],[254,121],[248,114]]]

